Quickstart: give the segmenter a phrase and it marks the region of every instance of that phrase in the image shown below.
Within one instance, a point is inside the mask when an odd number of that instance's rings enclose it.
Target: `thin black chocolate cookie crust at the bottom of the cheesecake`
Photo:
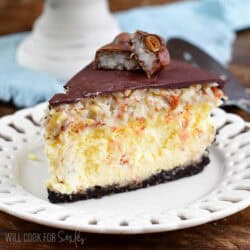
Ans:
[[[105,187],[95,186],[94,188],[87,189],[85,192],[73,194],[61,194],[48,189],[48,199],[52,203],[73,202],[91,198],[101,198],[104,195],[132,191],[198,174],[207,164],[209,164],[209,162],[209,157],[206,154],[203,155],[201,160],[197,163],[185,167],[176,167],[172,170],[162,170],[158,174],[152,175],[140,183],[131,183],[122,187],[119,185],[108,185]]]

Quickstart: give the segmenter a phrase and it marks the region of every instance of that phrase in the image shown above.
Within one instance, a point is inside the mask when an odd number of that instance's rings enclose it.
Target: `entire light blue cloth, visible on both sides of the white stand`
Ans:
[[[200,0],[135,8],[115,14],[122,31],[142,29],[166,39],[193,42],[223,64],[231,58],[235,32],[250,27],[250,0]],[[16,48],[27,33],[0,37],[0,99],[26,107],[62,91],[52,76],[16,63]]]

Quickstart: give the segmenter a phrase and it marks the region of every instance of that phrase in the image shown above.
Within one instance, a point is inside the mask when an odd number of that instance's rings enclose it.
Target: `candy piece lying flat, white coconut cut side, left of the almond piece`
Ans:
[[[112,43],[97,50],[94,62],[95,69],[137,70],[139,65],[131,57],[131,34],[121,33]]]

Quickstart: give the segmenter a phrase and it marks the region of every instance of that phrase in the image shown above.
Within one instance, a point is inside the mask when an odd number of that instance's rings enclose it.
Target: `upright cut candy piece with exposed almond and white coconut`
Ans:
[[[160,36],[136,31],[131,42],[132,53],[148,78],[170,64],[166,42]]]

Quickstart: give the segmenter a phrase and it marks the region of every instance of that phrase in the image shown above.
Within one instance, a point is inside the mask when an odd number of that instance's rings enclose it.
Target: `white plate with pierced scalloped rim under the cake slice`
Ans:
[[[0,209],[40,224],[135,234],[200,225],[250,205],[250,123],[220,109],[211,163],[198,175],[102,199],[51,204],[39,126],[46,104],[0,119]],[[38,159],[35,159],[36,156]]]

